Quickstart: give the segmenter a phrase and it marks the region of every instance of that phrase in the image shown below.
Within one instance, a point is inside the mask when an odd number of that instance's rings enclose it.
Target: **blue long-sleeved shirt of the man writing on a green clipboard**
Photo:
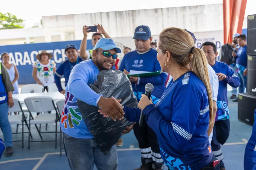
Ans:
[[[124,55],[119,70],[124,71],[125,69],[128,72],[130,72],[130,70],[159,71],[161,70],[161,66],[156,59],[156,54],[157,52],[153,48],[144,54],[139,54],[136,50],[129,52]],[[132,88],[137,100],[139,101],[141,94],[145,93],[145,85],[151,83],[154,85],[151,98],[155,104],[164,92],[166,79],[167,75],[165,73],[161,73],[159,76],[140,77],[137,84],[132,83]]]

